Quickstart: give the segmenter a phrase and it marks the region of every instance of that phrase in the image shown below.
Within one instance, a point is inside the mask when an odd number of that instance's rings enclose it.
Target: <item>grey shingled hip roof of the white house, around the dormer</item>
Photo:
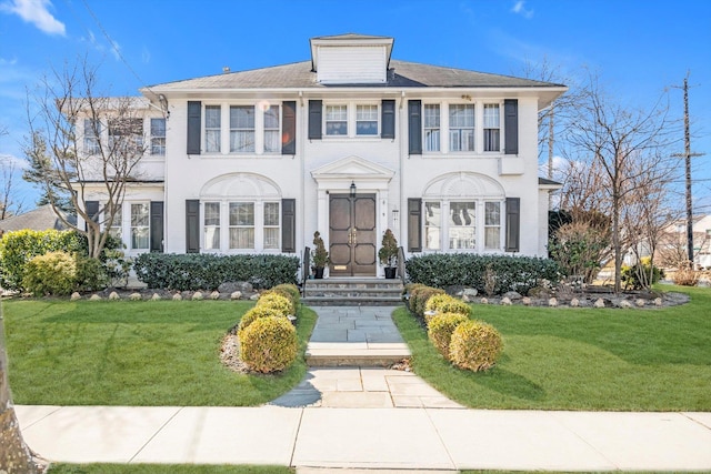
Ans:
[[[390,61],[388,82],[384,84],[321,84],[317,82],[311,61],[228,72],[183,81],[151,85],[157,92],[194,91],[209,89],[334,89],[369,88],[565,88],[562,84],[510,75],[491,74],[464,69],[417,62]]]

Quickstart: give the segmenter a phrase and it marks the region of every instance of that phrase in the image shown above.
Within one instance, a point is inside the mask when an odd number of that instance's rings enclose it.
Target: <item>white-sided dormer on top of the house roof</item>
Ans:
[[[384,84],[393,39],[339,34],[311,40],[311,65],[321,84]]]

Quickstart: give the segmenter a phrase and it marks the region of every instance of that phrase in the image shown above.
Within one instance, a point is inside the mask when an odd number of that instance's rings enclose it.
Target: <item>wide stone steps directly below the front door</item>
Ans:
[[[402,281],[374,278],[307,280],[303,304],[310,306],[399,306]]]

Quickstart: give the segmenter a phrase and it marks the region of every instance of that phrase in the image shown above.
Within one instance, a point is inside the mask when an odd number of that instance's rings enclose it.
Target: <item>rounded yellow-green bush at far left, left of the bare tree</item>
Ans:
[[[67,252],[48,252],[30,260],[22,286],[36,296],[70,294],[77,286],[77,260]]]

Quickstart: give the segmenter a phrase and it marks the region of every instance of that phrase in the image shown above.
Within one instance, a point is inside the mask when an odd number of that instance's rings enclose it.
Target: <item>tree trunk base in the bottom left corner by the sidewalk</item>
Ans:
[[[14,414],[8,380],[4,322],[0,305],[0,472],[3,474],[38,474],[43,473],[46,468],[47,462],[24,443],[20,424]]]

